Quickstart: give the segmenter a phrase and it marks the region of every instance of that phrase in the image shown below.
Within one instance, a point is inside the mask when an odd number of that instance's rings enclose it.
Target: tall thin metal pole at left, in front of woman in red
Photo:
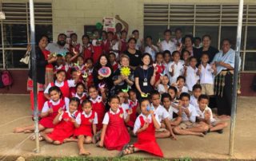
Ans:
[[[38,129],[38,84],[37,84],[37,62],[35,54],[35,34],[34,34],[34,2],[30,0],[30,38],[31,38],[31,56],[32,56],[32,76],[33,76],[33,98],[34,98],[34,134],[35,134],[35,152],[39,149],[39,129]]]

